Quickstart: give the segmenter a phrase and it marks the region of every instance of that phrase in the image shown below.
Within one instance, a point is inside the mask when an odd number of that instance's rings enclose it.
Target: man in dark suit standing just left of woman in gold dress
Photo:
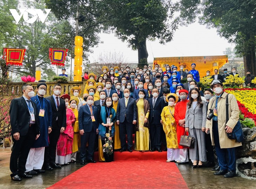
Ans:
[[[126,151],[126,133],[128,151],[132,152],[133,146],[133,128],[137,122],[137,106],[135,99],[130,98],[129,89],[124,89],[124,98],[119,99],[116,110],[116,123],[119,125],[121,150]]]

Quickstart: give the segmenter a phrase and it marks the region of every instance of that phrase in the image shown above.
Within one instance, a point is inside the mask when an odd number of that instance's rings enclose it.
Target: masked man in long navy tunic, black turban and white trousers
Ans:
[[[26,172],[28,175],[37,175],[44,173],[42,170],[43,156],[45,154],[45,146],[49,146],[48,134],[52,132],[52,107],[48,99],[43,98],[46,94],[46,83],[39,83],[36,86],[37,94],[31,98],[36,104],[36,112],[39,114],[40,137],[31,146],[27,162]]]

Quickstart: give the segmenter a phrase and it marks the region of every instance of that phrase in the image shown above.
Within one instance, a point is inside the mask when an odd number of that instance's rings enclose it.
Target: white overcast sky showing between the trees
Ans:
[[[123,53],[128,62],[138,61],[137,51],[128,48],[128,43],[121,42],[114,34],[100,34],[100,37],[104,43],[93,48],[90,62],[97,59],[101,52],[109,51]],[[161,45],[158,41],[147,41],[148,62],[153,62],[154,57],[223,55],[227,47],[234,48],[234,45],[218,36],[216,29],[206,29],[205,26],[194,23],[188,27],[179,27],[173,41],[166,45]]]

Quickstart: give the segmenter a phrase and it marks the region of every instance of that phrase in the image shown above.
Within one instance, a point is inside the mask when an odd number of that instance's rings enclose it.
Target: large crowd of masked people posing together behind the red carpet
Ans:
[[[157,64],[154,69],[145,65],[133,70],[103,66],[99,77],[87,75],[83,94],[74,86],[70,95],[61,95],[62,86],[55,84],[53,95],[46,98],[45,82],[37,85],[36,95],[31,85],[23,85],[22,97],[12,100],[9,112],[12,180],[74,163],[79,149],[82,165],[96,163],[95,150],[102,162],[113,161],[114,151],[164,150],[167,162],[186,164],[190,159],[193,168],[201,168],[208,161],[208,166],[215,166],[215,175],[235,176],[235,147],[241,143],[225,133],[232,132],[239,118],[236,99],[229,94],[226,124],[227,93],[221,79],[214,78],[210,88],[201,91],[196,64],[191,67],[188,71],[181,65],[177,71],[176,66],[167,65],[163,72]],[[185,77],[187,82],[182,84]],[[214,116],[207,120],[209,109]],[[194,148],[179,145],[181,136],[188,133],[195,138]]]

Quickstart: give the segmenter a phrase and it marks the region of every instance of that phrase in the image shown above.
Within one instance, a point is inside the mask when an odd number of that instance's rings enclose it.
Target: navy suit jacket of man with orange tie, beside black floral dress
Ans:
[[[92,105],[92,109],[95,121],[92,121],[91,112],[87,104],[81,106],[78,111],[79,130],[83,130],[85,133],[89,133],[91,131],[96,133],[96,130],[99,127],[98,109],[94,105]]]

